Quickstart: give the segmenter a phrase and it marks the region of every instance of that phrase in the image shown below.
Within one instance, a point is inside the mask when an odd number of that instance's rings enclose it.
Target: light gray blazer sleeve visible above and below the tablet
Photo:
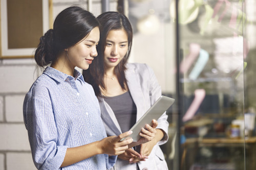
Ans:
[[[145,64],[146,65],[146,64]],[[157,99],[162,95],[161,86],[159,85],[156,75],[153,71],[153,69],[149,66],[147,66],[147,70],[150,75],[150,100],[151,100],[151,106],[157,101]],[[164,137],[162,140],[158,142],[159,145],[164,144],[168,140],[168,127],[169,123],[167,122],[168,115],[166,112],[164,112],[161,117],[157,120],[158,126],[157,129],[161,129],[164,132]]]

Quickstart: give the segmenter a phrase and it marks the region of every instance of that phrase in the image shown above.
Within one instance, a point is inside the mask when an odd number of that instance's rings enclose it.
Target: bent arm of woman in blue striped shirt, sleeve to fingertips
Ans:
[[[26,98],[24,112],[31,152],[37,169],[59,169],[96,154],[118,155],[132,142],[132,139],[120,142],[121,138],[131,134],[125,132],[75,148],[57,145],[58,132],[49,101]]]

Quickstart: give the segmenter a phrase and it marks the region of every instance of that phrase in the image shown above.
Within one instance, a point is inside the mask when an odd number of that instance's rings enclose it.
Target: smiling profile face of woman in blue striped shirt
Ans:
[[[95,27],[83,40],[68,48],[68,58],[72,67],[88,69],[93,58],[98,55],[99,28]]]

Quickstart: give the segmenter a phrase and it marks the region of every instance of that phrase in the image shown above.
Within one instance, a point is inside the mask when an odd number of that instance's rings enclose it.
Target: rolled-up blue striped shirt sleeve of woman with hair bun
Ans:
[[[24,122],[28,130],[29,142],[34,164],[37,169],[59,169],[67,146],[57,145],[58,133],[53,108],[46,90],[41,96],[27,94],[24,101]]]

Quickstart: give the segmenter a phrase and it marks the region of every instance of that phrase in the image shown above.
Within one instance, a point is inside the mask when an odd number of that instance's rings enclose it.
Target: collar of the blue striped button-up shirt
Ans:
[[[46,69],[44,70],[43,74],[48,75],[49,77],[53,78],[54,80],[56,80],[59,83],[62,83],[68,77],[71,77],[71,78],[75,77],[74,78],[75,80],[76,79],[80,79],[81,81],[83,81],[85,83],[82,74],[78,70],[76,70],[76,69],[74,70],[74,77],[72,77],[70,75],[67,75],[67,74],[65,74],[65,73],[63,73],[63,72],[61,72],[61,71],[59,71],[59,70],[57,70],[57,69],[55,69],[53,67],[50,67],[50,66],[46,67]]]

